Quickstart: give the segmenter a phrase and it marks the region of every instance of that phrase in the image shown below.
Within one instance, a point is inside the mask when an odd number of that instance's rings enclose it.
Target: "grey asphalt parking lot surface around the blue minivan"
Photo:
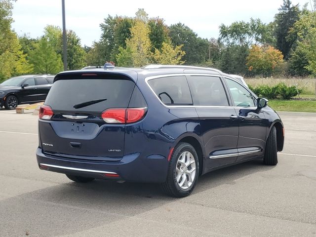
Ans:
[[[158,185],[76,184],[40,170],[37,116],[0,109],[0,237],[316,237],[316,116],[280,116],[277,166],[217,170],[177,199]]]

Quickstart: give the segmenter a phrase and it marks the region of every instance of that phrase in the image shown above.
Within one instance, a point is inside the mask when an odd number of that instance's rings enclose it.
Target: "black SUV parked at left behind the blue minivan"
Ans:
[[[0,107],[14,110],[19,104],[44,101],[53,79],[52,75],[24,75],[3,81],[0,84]]]

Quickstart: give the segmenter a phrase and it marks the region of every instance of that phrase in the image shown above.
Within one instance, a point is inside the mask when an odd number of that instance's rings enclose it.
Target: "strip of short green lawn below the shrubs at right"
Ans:
[[[316,101],[301,100],[269,100],[269,106],[276,111],[289,112],[314,112],[316,113]]]

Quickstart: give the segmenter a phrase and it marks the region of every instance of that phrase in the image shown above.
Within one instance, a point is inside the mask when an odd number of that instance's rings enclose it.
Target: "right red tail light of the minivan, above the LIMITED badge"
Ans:
[[[101,115],[107,123],[132,123],[144,118],[147,108],[108,109]]]

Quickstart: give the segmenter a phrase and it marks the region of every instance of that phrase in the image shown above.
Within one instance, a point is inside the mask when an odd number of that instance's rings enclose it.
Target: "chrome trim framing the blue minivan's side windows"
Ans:
[[[158,99],[158,101],[160,102],[160,104],[162,104],[164,107],[166,108],[223,108],[223,109],[248,109],[248,110],[255,110],[257,109],[257,107],[238,107],[238,106],[211,106],[211,105],[165,105],[164,103],[162,103],[162,101],[159,99],[158,95],[155,93],[155,91],[153,90],[153,88],[149,85],[148,81],[152,80],[152,79],[158,79],[158,78],[167,78],[167,77],[179,77],[179,76],[206,76],[206,77],[217,77],[217,78],[221,78],[221,75],[214,75],[214,74],[199,74],[199,73],[177,73],[177,74],[163,74],[163,75],[157,75],[157,76],[151,76],[151,77],[147,77],[145,78],[145,82],[147,84],[147,86],[150,88],[150,90],[153,92],[153,94],[156,96],[156,98]],[[226,76],[225,76],[226,77]],[[224,77],[224,78],[225,78]],[[241,86],[243,86],[245,89],[247,89],[244,85],[242,85],[239,81],[237,81],[236,79],[230,78],[230,77],[226,77],[228,79],[232,79],[235,82],[237,82],[238,84],[240,84]],[[189,86],[189,85],[188,85]],[[190,88],[190,86],[189,86]],[[225,89],[225,88],[224,88]],[[249,91],[249,89],[247,89]],[[191,93],[191,92],[190,92]],[[258,98],[256,95],[254,95],[251,91],[249,91],[249,93],[251,93],[255,98]]]

